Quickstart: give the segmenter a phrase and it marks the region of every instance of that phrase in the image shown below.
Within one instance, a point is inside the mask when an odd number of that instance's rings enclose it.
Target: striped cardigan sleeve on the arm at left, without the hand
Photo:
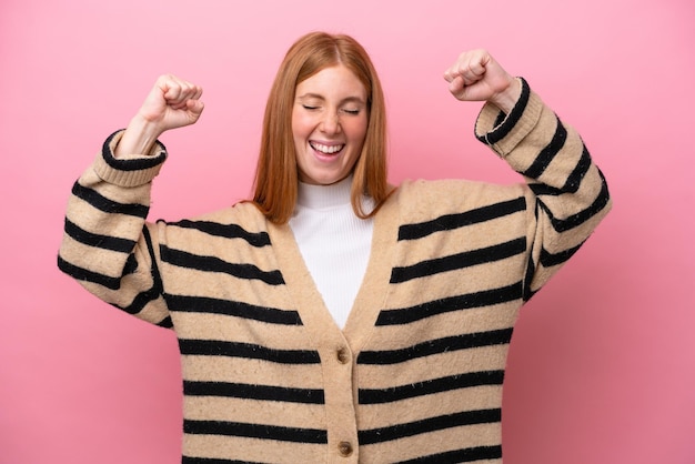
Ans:
[[[145,221],[152,180],[167,150],[158,142],[147,155],[117,159],[122,133],[107,139],[72,188],[58,266],[104,302],[170,327],[158,271],[158,225]]]

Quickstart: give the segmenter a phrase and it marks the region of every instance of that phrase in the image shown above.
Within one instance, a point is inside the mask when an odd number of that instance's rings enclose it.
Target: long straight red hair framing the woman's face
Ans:
[[[364,50],[344,34],[312,32],[290,48],[280,64],[265,105],[253,202],[269,221],[286,223],[296,203],[298,168],[292,137],[296,85],[325,68],[343,64],[366,90],[369,124],[362,153],[353,169],[352,208],[360,218],[373,215],[389,196],[386,181],[386,114],[381,82]],[[363,211],[362,196],[376,208]]]

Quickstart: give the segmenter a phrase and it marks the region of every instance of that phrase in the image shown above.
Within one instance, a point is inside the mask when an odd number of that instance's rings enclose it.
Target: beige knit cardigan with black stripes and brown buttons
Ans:
[[[502,462],[520,307],[611,203],[578,134],[522,82],[475,131],[527,183],[401,184],[342,331],[288,225],[252,203],[148,223],[163,147],[114,159],[120,133],[104,143],[72,190],[59,268],[175,332],[183,463]]]

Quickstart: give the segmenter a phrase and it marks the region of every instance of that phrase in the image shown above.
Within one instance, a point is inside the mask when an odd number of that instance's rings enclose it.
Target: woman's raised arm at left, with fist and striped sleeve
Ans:
[[[58,266],[101,300],[170,325],[159,274],[158,225],[145,222],[152,179],[167,158],[158,138],[198,121],[202,90],[162,75],[128,129],[109,137],[68,201]]]

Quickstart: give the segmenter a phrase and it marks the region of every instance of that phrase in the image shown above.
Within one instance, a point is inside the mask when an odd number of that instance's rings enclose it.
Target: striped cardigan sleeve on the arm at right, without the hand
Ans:
[[[485,104],[475,124],[487,144],[528,186],[528,300],[578,250],[611,210],[605,178],[580,134],[522,81],[508,114]]]

